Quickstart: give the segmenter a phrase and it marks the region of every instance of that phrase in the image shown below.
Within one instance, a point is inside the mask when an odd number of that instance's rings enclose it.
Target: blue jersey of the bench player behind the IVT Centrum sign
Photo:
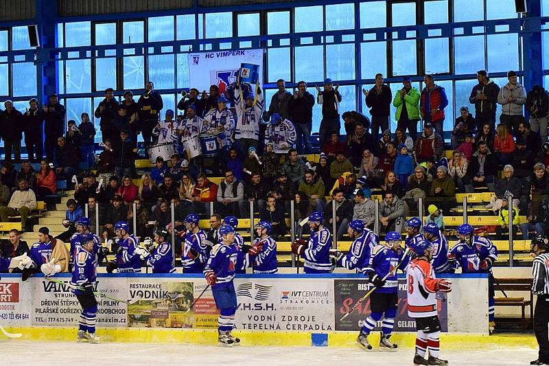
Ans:
[[[305,273],[330,273],[331,234],[325,227],[311,233],[307,249],[301,253],[305,259]]]

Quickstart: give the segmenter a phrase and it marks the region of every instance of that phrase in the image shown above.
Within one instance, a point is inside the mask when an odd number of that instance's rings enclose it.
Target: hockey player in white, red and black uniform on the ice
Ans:
[[[449,293],[452,282],[436,279],[430,261],[432,244],[421,240],[410,245],[417,258],[410,262],[406,271],[408,284],[408,317],[416,319],[416,353],[414,365],[447,365],[439,358],[441,322],[436,310],[436,291]],[[429,358],[425,354],[429,350]]]

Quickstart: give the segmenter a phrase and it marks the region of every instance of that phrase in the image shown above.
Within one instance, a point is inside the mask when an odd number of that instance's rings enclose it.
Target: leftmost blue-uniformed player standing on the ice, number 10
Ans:
[[[99,342],[99,337],[95,334],[97,300],[95,300],[95,295],[93,295],[96,277],[95,240],[93,236],[84,234],[81,237],[80,246],[76,251],[74,271],[71,278],[71,285],[79,287],[73,289],[73,293],[82,307],[78,334],[76,336],[78,341],[87,341],[89,343]]]

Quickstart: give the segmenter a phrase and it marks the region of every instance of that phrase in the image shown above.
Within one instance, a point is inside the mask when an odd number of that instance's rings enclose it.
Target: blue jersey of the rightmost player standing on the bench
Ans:
[[[492,268],[480,268],[480,264],[487,258],[492,263],[498,259],[498,248],[487,238],[473,236],[471,245],[458,242],[449,251],[448,258],[454,262],[454,268],[461,267],[463,273],[491,273]]]

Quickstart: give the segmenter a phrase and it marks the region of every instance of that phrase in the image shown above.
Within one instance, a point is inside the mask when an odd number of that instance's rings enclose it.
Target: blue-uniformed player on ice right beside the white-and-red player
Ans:
[[[357,339],[358,345],[366,351],[372,350],[368,336],[377,322],[382,319],[380,350],[397,350],[397,345],[390,341],[397,315],[397,269],[400,268],[404,271],[410,259],[408,256],[403,258],[405,253],[400,243],[400,233],[388,232],[385,236],[385,244],[379,244],[373,248],[368,266],[363,270],[364,274],[369,276],[370,283],[375,286],[375,290],[370,295],[371,314],[364,321]],[[399,264],[401,260],[402,262]]]

